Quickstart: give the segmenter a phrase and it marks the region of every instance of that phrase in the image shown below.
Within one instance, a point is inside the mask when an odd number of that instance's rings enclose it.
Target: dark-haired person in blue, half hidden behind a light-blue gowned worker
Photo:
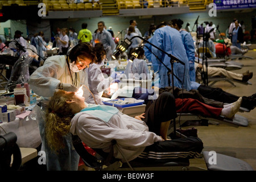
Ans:
[[[191,81],[196,81],[196,70],[195,70],[195,46],[194,41],[189,34],[189,32],[184,31],[181,27],[183,24],[183,20],[181,19],[172,19],[172,28],[175,28],[180,32],[184,47],[186,49],[188,61],[189,61],[189,76]]]

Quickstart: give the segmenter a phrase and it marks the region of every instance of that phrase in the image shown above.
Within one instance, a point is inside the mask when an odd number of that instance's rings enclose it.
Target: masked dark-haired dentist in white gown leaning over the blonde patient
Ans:
[[[29,84],[32,91],[44,99],[35,105],[34,110],[39,122],[42,139],[42,150],[46,152],[47,170],[76,171],[79,155],[72,145],[71,134],[63,136],[65,148],[56,154],[48,147],[44,130],[44,114],[47,101],[53,96],[55,89],[77,92],[81,85],[88,88],[88,77],[84,68],[96,60],[92,47],[88,43],[80,43],[73,47],[68,55],[56,55],[46,59],[44,65],[36,69],[30,76]],[[83,97],[88,98],[89,90],[82,86]],[[57,103],[56,103],[57,104]]]

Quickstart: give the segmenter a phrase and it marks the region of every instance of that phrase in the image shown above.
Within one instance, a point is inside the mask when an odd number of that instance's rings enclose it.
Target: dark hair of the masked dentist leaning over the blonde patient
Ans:
[[[92,59],[92,63],[94,63],[97,59],[96,53],[93,51],[92,46],[89,43],[79,43],[75,47],[71,49],[68,54],[69,59],[71,62],[76,61],[77,57],[80,55],[84,55]]]

